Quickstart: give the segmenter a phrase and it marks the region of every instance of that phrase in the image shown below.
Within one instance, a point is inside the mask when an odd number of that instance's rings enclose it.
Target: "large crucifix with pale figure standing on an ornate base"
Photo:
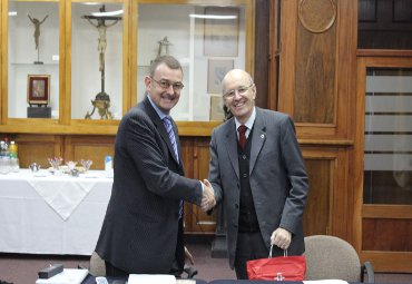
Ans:
[[[91,118],[96,108],[98,108],[101,119],[111,119],[111,114],[108,110],[108,108],[110,107],[110,97],[105,92],[105,51],[107,47],[106,31],[107,28],[115,26],[119,20],[121,20],[121,17],[105,16],[105,6],[101,6],[99,11],[99,16],[87,14],[81,17],[82,19],[86,19],[91,26],[94,26],[99,32],[99,37],[97,39],[97,50],[99,51],[99,71],[101,74],[101,91],[96,95],[95,100],[91,100],[91,104],[94,105],[94,110],[91,111],[91,114],[87,111],[87,115],[85,117],[86,119]],[[107,21],[110,22],[107,23]]]

